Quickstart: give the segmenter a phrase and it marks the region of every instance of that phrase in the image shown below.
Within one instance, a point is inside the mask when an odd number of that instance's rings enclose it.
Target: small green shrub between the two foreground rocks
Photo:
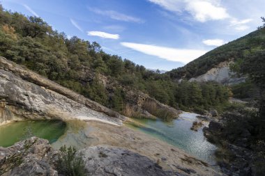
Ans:
[[[77,152],[75,147],[68,147],[63,145],[60,148],[56,168],[59,174],[66,176],[82,176],[86,175],[85,170],[86,162],[81,153]]]

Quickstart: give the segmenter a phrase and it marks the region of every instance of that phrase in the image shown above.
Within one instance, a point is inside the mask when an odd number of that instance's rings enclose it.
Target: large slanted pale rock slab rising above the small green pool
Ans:
[[[101,120],[118,125],[126,119],[0,57],[0,125],[24,118]]]

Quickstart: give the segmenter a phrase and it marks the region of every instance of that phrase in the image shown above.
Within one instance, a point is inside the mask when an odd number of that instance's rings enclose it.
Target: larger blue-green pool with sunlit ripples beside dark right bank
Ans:
[[[194,113],[182,113],[180,118],[170,123],[165,123],[159,119],[139,119],[136,121],[141,125],[129,124],[129,127],[155,136],[161,141],[179,147],[198,159],[202,159],[202,161],[214,164],[215,145],[206,141],[202,128],[198,131],[190,130],[192,122],[197,120],[196,115]]]

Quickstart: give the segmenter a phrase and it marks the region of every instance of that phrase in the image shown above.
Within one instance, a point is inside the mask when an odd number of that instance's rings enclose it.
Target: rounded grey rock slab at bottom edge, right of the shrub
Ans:
[[[81,150],[86,170],[91,175],[180,175],[162,170],[157,163],[135,152],[114,147],[89,147]]]

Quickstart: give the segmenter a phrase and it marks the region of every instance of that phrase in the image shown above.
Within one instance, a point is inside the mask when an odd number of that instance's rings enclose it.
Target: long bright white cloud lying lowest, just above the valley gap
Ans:
[[[198,58],[207,52],[205,50],[199,49],[176,49],[132,42],[121,42],[121,45],[144,54],[158,56],[159,58],[165,59],[167,61],[176,61],[181,63],[189,63],[190,61],[193,61],[195,58]]]

